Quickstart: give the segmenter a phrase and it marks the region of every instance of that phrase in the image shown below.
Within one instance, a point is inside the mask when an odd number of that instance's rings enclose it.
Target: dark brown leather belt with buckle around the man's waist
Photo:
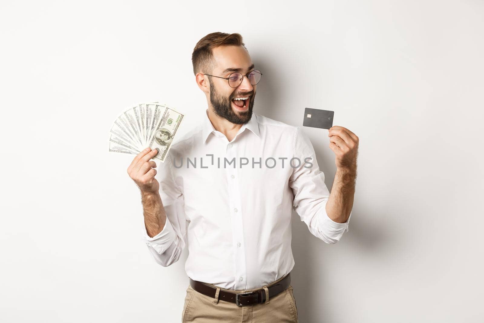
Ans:
[[[278,281],[276,284],[269,286],[269,299],[277,295],[278,293],[285,291],[289,288],[291,283],[291,273],[287,274],[286,277]],[[217,291],[216,288],[207,285],[201,281],[193,280],[190,278],[190,286],[197,292],[200,292],[204,295],[210,296],[215,298],[215,292]],[[246,292],[246,293],[233,293],[233,292],[226,292],[220,290],[218,293],[218,299],[235,303],[237,306],[247,306],[252,304],[260,304],[266,301],[266,291],[262,288],[254,292]]]

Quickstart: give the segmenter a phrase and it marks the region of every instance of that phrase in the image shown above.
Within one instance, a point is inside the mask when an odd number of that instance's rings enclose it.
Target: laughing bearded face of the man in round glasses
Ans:
[[[225,71],[229,68],[240,68],[238,72],[242,75],[247,75],[248,72],[254,70],[249,53],[243,46],[218,46],[213,48],[213,56],[215,68],[209,74],[219,76],[212,77],[212,81],[210,81],[210,103],[213,110],[218,116],[231,123],[248,123],[252,117],[257,85],[251,85],[248,78],[243,77],[242,83],[237,88],[232,88],[226,79],[220,77],[228,77],[231,73],[236,72],[234,70]],[[247,96],[249,98],[243,101],[245,108],[243,104],[239,108],[232,101],[234,98]]]

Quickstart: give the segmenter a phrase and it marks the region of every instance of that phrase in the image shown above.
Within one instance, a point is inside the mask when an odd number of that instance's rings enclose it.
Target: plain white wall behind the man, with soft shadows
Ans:
[[[197,41],[239,32],[255,112],[302,126],[335,111],[360,138],[349,231],[293,214],[300,322],[483,322],[484,4],[460,1],[2,1],[2,322],[180,322],[186,251],[140,237],[131,156],[108,153],[124,108],[207,108]],[[304,127],[331,189],[328,131]]]

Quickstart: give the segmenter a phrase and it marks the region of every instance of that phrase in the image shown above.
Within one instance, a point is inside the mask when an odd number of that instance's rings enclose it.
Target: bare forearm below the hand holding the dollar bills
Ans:
[[[146,232],[152,238],[165,227],[166,213],[159,192],[141,191]]]

